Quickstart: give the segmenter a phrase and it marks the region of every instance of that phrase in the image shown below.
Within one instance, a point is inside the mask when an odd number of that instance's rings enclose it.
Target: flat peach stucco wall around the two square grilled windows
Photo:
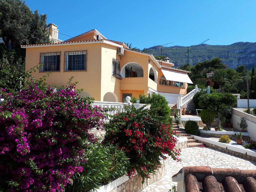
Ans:
[[[70,44],[47,47],[33,47],[26,48],[26,70],[33,68],[40,62],[40,53],[58,52],[61,51],[60,56],[60,72],[52,72],[46,81],[50,85],[57,84],[57,88],[61,85],[66,85],[68,79],[74,76],[73,82],[78,81],[76,88],[84,89],[95,100],[101,100],[101,46],[102,43],[95,44]],[[87,50],[87,71],[68,71],[64,72],[64,57],[65,51],[82,51]],[[112,60],[111,60],[112,63]],[[110,66],[111,68],[111,66]],[[36,79],[46,75],[47,72],[40,72],[37,70],[32,74]]]

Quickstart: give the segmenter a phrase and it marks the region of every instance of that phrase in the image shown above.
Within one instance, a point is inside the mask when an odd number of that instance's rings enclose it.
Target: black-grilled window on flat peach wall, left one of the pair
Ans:
[[[40,53],[39,72],[60,71],[60,52]]]

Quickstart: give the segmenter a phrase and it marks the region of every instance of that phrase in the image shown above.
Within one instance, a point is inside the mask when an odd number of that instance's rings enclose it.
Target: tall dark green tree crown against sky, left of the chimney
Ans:
[[[49,41],[47,15],[33,13],[25,1],[0,0],[1,37],[6,48],[18,49],[21,44]]]

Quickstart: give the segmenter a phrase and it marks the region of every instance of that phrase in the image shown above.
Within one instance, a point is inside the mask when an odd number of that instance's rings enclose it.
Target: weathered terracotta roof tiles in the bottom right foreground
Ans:
[[[190,166],[172,179],[184,192],[256,192],[256,170]]]

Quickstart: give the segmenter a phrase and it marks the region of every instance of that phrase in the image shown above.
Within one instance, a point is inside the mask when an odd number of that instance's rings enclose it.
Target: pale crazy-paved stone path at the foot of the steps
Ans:
[[[228,153],[224,153],[212,148],[191,147],[181,150],[181,162],[167,160],[166,175],[159,181],[148,185],[143,192],[167,192],[176,182],[172,182],[172,176],[186,166],[208,165],[213,168],[239,168],[239,169],[256,169],[256,162],[249,161]]]

